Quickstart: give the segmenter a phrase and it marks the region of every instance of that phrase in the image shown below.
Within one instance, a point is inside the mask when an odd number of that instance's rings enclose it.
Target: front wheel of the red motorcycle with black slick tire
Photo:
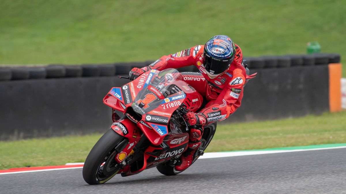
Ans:
[[[121,167],[115,161],[116,147],[126,138],[109,129],[91,149],[83,166],[84,181],[90,185],[102,184],[116,175]]]

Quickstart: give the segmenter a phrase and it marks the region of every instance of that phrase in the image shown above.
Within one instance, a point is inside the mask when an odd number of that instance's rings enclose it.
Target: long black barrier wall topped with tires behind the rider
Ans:
[[[327,63],[339,62],[339,55],[247,60],[251,72],[258,75],[246,85],[242,106],[226,122],[320,114],[329,109]],[[127,75],[131,68],[151,62],[1,67],[0,140],[104,132],[111,124],[111,109],[102,99],[111,87],[128,82],[114,75]],[[196,71],[191,66],[178,70]]]

